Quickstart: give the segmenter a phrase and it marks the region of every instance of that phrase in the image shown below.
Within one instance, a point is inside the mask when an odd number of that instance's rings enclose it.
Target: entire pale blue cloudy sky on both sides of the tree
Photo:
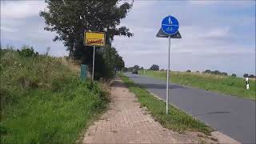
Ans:
[[[1,45],[34,46],[53,56],[67,55],[55,33],[43,30],[44,1],[1,1]],[[171,39],[170,70],[220,70],[255,74],[255,1],[134,1],[122,19],[132,38],[115,36],[113,46],[126,66],[160,69],[168,65],[168,38],[157,38],[162,18],[178,19],[181,39]]]

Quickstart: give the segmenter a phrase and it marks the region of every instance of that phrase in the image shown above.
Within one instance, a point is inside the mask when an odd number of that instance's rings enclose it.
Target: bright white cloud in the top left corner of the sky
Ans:
[[[1,18],[27,18],[45,7],[44,1],[1,1]]]

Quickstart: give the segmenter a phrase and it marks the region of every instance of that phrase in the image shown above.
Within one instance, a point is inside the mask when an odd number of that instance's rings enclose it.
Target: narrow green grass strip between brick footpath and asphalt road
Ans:
[[[146,106],[150,114],[152,114],[162,126],[178,131],[179,133],[185,130],[193,130],[210,134],[210,132],[213,131],[210,126],[206,126],[203,122],[199,122],[197,119],[182,112],[182,110],[178,110],[174,106],[170,105],[169,114],[166,115],[166,102],[155,98],[154,95],[134,84],[134,82],[123,74],[119,74],[119,76],[122,78],[122,81],[125,82],[126,86],[129,87],[130,91],[136,94],[138,102],[140,102],[142,106]]]

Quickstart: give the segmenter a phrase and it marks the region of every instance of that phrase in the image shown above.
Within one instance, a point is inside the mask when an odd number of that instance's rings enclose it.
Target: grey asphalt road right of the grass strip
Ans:
[[[126,76],[166,99],[166,81],[140,74]],[[238,142],[255,143],[255,101],[176,84],[169,88],[169,102],[179,109]]]

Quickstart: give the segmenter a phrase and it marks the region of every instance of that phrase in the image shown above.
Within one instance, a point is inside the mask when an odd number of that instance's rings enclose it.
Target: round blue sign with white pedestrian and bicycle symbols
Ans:
[[[172,16],[163,18],[162,31],[168,35],[176,34],[178,31],[178,20]]]

